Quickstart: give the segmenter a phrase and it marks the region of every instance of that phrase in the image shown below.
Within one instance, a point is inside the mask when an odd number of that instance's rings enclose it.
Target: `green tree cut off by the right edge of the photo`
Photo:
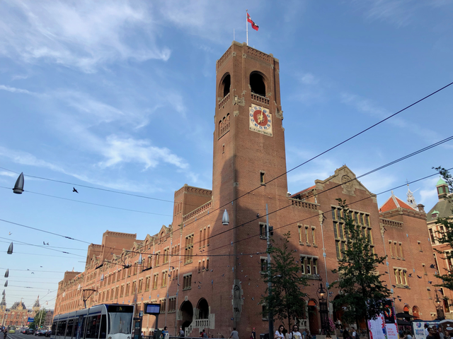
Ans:
[[[449,173],[449,171],[443,167],[436,167],[435,168],[441,175],[441,177],[445,180],[445,182],[448,185],[450,193],[453,190],[453,179],[452,179],[452,174]],[[453,200],[452,196],[447,195],[445,197],[446,201],[449,201],[451,204],[450,206],[453,206]],[[452,210],[452,215],[453,215],[453,210]],[[449,249],[447,251],[441,251],[439,249],[435,249],[440,254],[444,254],[445,258],[449,260],[450,262],[453,259],[453,218],[452,215],[446,218],[437,218],[436,220],[436,225],[442,225],[444,227],[444,232],[440,234],[440,237],[436,237],[436,240],[440,244],[447,244],[449,246]],[[438,233],[439,234],[439,233]],[[448,288],[449,290],[453,290],[453,271],[452,270],[447,270],[445,268],[446,272],[444,274],[440,274],[440,272],[435,275],[437,278],[442,279],[442,284],[436,285],[439,287],[445,287]]]

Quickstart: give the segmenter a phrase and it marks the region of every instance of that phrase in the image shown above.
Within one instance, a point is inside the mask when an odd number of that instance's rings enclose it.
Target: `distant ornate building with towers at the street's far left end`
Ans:
[[[22,302],[15,302],[11,308],[6,307],[6,297],[3,295],[0,302],[0,321],[1,326],[26,326],[28,318],[33,318],[40,310],[39,297],[33,307],[27,309]]]

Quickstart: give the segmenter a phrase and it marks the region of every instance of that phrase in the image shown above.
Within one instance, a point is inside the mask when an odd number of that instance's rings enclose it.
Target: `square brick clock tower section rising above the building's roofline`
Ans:
[[[269,201],[263,197],[273,196],[276,207],[275,199],[287,194],[278,59],[233,42],[216,73],[213,207],[259,187],[237,202],[248,201],[264,215]]]

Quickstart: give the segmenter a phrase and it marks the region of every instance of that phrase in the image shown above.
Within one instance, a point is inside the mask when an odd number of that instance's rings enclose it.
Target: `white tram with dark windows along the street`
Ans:
[[[52,339],[131,339],[134,306],[101,304],[67,314],[52,323]]]

